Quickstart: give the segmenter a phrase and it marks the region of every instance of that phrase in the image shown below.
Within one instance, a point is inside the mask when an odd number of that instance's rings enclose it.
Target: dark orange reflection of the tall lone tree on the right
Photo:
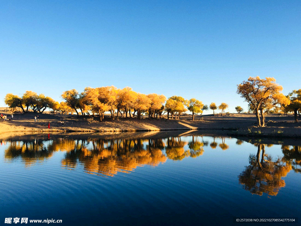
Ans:
[[[276,196],[281,187],[285,186],[281,177],[286,177],[292,167],[279,158],[273,162],[272,157],[265,154],[264,144],[257,144],[257,147],[257,154],[249,156],[250,165],[246,166],[246,169],[238,176],[239,183],[252,194],[261,196],[267,193],[270,196]]]

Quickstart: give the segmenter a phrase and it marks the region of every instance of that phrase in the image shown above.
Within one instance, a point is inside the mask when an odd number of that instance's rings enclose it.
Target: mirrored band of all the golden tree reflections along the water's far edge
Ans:
[[[301,147],[284,145],[282,141],[244,140],[226,137],[171,136],[164,138],[100,139],[93,137],[34,137],[19,141],[0,141],[5,145],[5,162],[22,162],[26,168],[43,164],[54,152],[63,152],[61,167],[67,170],[81,169],[88,174],[111,176],[130,173],[137,167],[156,167],[167,159],[181,161],[197,158],[211,152],[231,150],[231,147],[251,143],[247,150],[249,165],[238,175],[238,183],[244,190],[262,196],[276,196],[285,186],[284,178],[293,170],[301,173]],[[227,144],[228,143],[228,144]],[[273,158],[266,148],[281,148],[283,156]],[[253,150],[253,145],[256,150]],[[219,147],[219,148],[217,148]],[[216,149],[217,148],[217,149]],[[275,147],[274,147],[275,148]],[[206,151],[205,151],[206,149]],[[279,149],[280,150],[280,149]],[[228,153],[228,152],[225,152]],[[256,153],[256,154],[255,154]],[[239,171],[240,171],[239,170]],[[237,175],[237,174],[236,174]]]

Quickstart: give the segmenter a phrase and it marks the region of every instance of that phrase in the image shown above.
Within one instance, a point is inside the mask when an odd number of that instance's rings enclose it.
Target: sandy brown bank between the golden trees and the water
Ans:
[[[10,114],[8,119],[10,119]],[[147,117],[138,120],[136,118],[120,118],[112,121],[106,115],[103,122],[98,117],[77,118],[76,115],[39,114],[39,122],[34,122],[34,113],[14,114],[14,120],[4,121],[0,119],[0,134],[3,133],[55,133],[55,132],[120,132],[120,131],[157,131],[157,130],[193,130],[193,129],[227,129],[235,130],[231,135],[258,136],[273,135],[299,137],[301,136],[301,122],[294,123],[292,115],[279,116],[267,115],[266,127],[257,128],[255,115],[229,114],[227,116],[201,115],[191,120],[191,115],[181,116],[180,119],[151,119]],[[301,120],[300,120],[301,121]],[[50,122],[50,129],[48,129]],[[62,126],[61,122],[64,122]],[[251,132],[250,132],[251,129]],[[237,131],[236,131],[237,130]],[[260,133],[256,131],[260,130]],[[279,131],[280,130],[280,131]],[[279,131],[279,132],[278,132]],[[283,132],[281,132],[283,131]]]

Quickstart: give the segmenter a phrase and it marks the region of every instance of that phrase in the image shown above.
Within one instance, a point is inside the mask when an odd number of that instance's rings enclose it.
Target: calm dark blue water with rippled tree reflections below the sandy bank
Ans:
[[[179,131],[0,142],[1,223],[26,217],[62,219],[59,225],[240,225],[234,217],[300,218],[298,140]]]

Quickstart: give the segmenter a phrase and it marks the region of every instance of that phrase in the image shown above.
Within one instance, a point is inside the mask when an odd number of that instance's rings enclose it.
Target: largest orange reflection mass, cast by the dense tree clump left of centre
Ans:
[[[148,143],[148,145],[144,144]],[[138,166],[157,166],[166,162],[162,139],[81,141],[81,145],[66,153],[62,165],[75,168],[82,165],[85,172],[113,176],[128,173]]]

